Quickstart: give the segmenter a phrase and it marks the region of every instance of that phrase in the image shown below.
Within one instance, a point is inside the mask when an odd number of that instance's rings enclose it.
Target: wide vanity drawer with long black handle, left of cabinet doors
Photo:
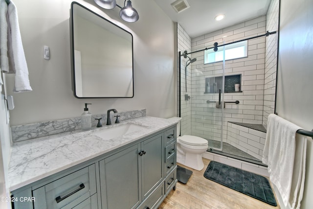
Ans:
[[[45,186],[33,190],[35,209],[73,207],[96,193],[95,164],[75,171]]]

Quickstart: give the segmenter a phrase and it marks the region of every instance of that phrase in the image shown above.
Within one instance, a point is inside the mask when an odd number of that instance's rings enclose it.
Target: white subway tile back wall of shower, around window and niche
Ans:
[[[266,16],[245,23],[215,31],[191,40],[192,51],[204,47],[212,47],[214,42],[230,43],[266,33]],[[226,36],[226,37],[225,37]],[[224,37],[224,38],[223,38]],[[265,42],[261,37],[248,41],[248,57],[225,61],[225,75],[241,74],[241,90],[239,93],[225,93],[224,101],[239,100],[239,104],[226,104],[224,109],[223,141],[226,142],[227,121],[262,124],[264,73],[265,73]],[[203,64],[203,51],[192,54],[197,61],[192,65],[191,92],[193,99],[191,114],[192,135],[205,139],[221,140],[222,109],[217,109],[218,93],[205,92],[205,78],[222,76],[223,62]]]

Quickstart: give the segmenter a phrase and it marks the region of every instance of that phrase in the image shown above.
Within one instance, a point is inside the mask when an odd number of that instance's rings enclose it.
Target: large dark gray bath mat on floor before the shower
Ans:
[[[263,176],[211,161],[204,172],[204,177],[271,206],[277,206],[268,179]]]

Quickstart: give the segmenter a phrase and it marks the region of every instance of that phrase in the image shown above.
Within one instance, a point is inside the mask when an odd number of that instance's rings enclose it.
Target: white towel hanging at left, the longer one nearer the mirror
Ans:
[[[8,30],[10,32],[8,34],[8,52],[9,58],[13,58],[13,63],[11,64],[10,62],[10,70],[12,67],[15,72],[15,86],[13,91],[15,93],[32,91],[29,84],[28,68],[22,46],[18,12],[12,1],[8,5],[8,23]]]

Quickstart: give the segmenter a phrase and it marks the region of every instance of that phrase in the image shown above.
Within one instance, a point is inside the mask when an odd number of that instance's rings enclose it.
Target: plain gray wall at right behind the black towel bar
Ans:
[[[282,0],[276,111],[313,129],[313,0]],[[308,138],[306,179],[301,209],[313,208],[313,140]]]

